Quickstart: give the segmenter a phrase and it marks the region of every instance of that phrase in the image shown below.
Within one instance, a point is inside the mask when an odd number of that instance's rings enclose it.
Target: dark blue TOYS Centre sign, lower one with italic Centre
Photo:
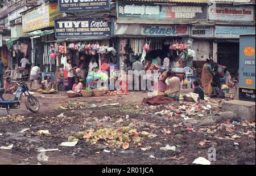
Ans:
[[[56,38],[102,37],[113,35],[113,22],[104,19],[55,21]]]

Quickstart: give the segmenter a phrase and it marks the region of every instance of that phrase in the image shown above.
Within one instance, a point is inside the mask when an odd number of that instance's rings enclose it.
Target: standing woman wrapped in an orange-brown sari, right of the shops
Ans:
[[[207,59],[207,63],[204,64],[202,70],[202,87],[204,88],[205,95],[212,93],[212,67],[210,66],[210,59]]]

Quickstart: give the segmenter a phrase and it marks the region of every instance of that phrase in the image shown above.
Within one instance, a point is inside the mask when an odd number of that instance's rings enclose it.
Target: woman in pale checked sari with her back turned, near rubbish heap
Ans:
[[[168,97],[171,97],[174,101],[179,101],[180,79],[177,76],[172,76],[171,78],[166,79],[166,84],[168,85]]]

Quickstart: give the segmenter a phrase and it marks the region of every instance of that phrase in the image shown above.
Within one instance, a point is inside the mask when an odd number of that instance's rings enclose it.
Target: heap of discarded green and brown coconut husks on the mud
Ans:
[[[107,145],[109,148],[122,147],[123,149],[128,149],[130,143],[141,146],[141,141],[143,137],[146,137],[148,135],[149,133],[146,131],[137,132],[136,129],[131,129],[129,126],[117,129],[103,128],[102,126],[98,126],[97,130],[89,128],[84,132],[77,132],[76,137],[69,136],[68,141],[84,139],[87,143],[91,145],[98,143],[98,141],[105,141],[105,145]]]

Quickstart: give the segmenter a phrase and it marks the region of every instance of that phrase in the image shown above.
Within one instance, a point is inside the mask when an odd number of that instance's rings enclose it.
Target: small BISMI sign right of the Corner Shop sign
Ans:
[[[214,28],[212,26],[192,26],[191,36],[192,37],[213,37]]]

